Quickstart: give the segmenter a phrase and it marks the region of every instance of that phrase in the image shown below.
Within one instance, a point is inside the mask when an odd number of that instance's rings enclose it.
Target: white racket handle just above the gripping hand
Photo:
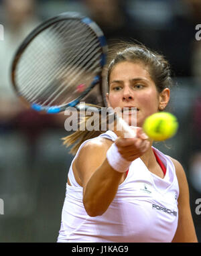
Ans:
[[[136,129],[132,129],[121,117],[117,117],[115,133],[118,137],[134,138],[136,137]],[[119,129],[120,128],[120,129]]]

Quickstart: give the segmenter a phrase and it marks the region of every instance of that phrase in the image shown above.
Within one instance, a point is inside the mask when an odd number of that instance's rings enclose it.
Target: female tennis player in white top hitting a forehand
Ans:
[[[197,242],[184,169],[141,128],[170,100],[169,64],[133,44],[117,52],[107,78],[109,106],[137,109],[137,137],[109,130],[65,138],[66,145],[81,140],[73,147],[58,242]]]

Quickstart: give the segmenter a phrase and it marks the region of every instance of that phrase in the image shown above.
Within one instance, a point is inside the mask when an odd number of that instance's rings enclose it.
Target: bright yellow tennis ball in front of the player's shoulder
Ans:
[[[178,131],[178,121],[170,113],[155,113],[145,119],[143,130],[154,141],[170,139]]]

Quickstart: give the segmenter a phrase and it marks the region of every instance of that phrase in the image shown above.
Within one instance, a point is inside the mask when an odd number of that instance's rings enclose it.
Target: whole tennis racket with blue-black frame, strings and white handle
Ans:
[[[80,13],[61,13],[23,40],[13,58],[11,82],[17,96],[31,109],[60,113],[76,107],[83,111],[79,103],[92,88],[99,84],[102,91],[106,59],[107,42],[100,27]],[[135,137],[123,119],[115,118],[123,134]]]

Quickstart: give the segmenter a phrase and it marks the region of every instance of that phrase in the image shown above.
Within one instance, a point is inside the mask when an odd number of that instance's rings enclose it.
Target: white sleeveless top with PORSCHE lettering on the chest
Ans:
[[[100,137],[117,139],[113,131]],[[113,202],[101,216],[86,213],[82,187],[74,178],[71,164],[68,178],[72,186],[66,184],[58,242],[171,242],[178,226],[178,179],[172,160],[153,149],[166,167],[165,177],[152,174],[140,158],[135,159]]]

